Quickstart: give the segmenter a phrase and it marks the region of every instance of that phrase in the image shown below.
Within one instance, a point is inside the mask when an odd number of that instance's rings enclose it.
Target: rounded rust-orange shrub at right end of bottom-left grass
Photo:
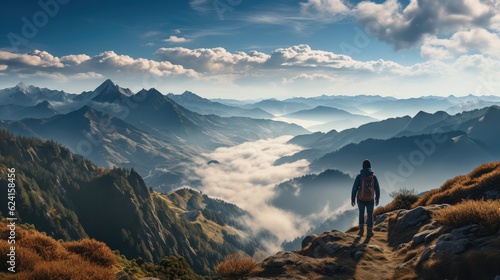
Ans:
[[[116,255],[105,243],[95,239],[82,239],[64,243],[66,250],[80,255],[91,263],[101,266],[112,266],[116,263]]]

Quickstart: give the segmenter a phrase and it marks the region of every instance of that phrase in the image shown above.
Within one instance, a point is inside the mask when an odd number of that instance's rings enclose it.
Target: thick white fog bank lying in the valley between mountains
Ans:
[[[250,213],[251,218],[245,222],[255,234],[268,230],[279,237],[278,243],[267,244],[270,251],[279,250],[283,240],[291,240],[310,227],[306,218],[270,204],[276,184],[308,171],[305,160],[273,165],[280,157],[302,150],[299,146],[286,144],[287,140],[289,137],[280,137],[219,148],[206,157],[220,164],[207,165],[206,161],[201,161],[194,170],[204,193],[234,203]]]

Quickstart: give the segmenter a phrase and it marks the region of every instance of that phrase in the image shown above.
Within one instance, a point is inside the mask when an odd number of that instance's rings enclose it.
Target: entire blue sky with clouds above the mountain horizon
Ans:
[[[500,92],[498,0],[7,0],[0,88],[206,98]]]

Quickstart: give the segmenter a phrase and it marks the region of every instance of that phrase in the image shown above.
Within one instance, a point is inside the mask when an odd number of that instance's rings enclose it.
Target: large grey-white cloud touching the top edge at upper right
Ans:
[[[480,0],[411,0],[406,7],[398,0],[364,1],[352,13],[373,36],[396,49],[416,46],[427,35],[488,26],[495,16],[491,5]]]

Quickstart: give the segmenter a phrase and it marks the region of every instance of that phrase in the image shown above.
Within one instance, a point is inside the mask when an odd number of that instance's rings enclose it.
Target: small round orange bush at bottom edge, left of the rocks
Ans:
[[[240,253],[234,253],[224,258],[224,261],[215,266],[214,272],[223,279],[239,279],[247,275],[257,265],[252,258]]]

